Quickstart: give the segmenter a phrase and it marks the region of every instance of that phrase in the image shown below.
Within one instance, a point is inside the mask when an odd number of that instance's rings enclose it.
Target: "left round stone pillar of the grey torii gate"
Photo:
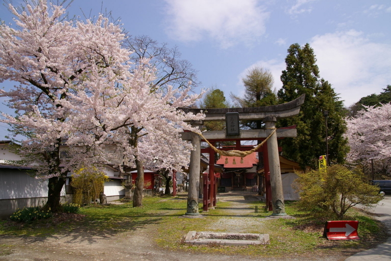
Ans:
[[[192,127],[201,129],[204,122],[202,120],[192,120]],[[190,152],[190,171],[189,171],[189,193],[187,196],[187,209],[185,215],[199,215],[198,213],[198,192],[199,192],[199,173],[201,160],[201,137],[192,132],[192,145],[195,147]]]

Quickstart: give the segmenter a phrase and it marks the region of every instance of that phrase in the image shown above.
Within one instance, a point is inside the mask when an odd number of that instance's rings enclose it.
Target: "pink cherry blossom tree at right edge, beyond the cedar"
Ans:
[[[391,104],[368,106],[347,119],[350,152],[348,161],[391,160]],[[391,166],[388,166],[390,172]]]

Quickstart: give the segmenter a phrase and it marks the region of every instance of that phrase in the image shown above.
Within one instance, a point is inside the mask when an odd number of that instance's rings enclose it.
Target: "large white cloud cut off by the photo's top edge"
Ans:
[[[209,37],[220,47],[247,45],[265,33],[269,13],[258,0],[166,0],[166,31],[183,42]]]

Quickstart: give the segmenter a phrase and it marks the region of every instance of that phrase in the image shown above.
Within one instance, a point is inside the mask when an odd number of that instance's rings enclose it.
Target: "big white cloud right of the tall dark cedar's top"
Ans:
[[[391,84],[391,45],[371,42],[355,30],[311,39],[321,77],[349,106]]]

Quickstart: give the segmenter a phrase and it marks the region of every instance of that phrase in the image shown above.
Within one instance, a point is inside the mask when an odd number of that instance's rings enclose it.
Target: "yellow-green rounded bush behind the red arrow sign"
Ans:
[[[360,204],[369,208],[383,198],[379,195],[379,188],[369,184],[359,168],[333,165],[326,170],[297,174],[302,199],[299,206],[304,210],[334,213],[343,219],[351,207]]]

